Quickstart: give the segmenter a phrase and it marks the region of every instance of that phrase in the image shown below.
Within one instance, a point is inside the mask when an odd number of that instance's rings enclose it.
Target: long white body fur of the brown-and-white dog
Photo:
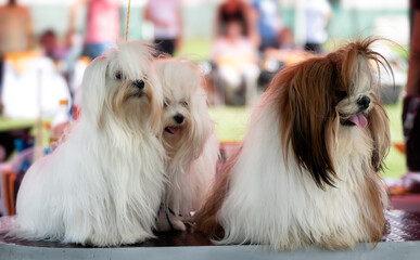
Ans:
[[[354,81],[360,89],[355,94],[369,93],[370,78],[357,72]],[[343,109],[352,106],[352,102],[343,104]],[[369,216],[360,197],[360,191],[366,191],[365,180],[369,178],[366,169],[373,150],[368,130],[342,127],[336,120],[336,140],[330,147],[338,174],[336,188],[327,186],[322,191],[308,172],[301,172],[292,151],[284,161],[278,115],[275,98],[263,100],[253,112],[242,151],[230,171],[229,193],[217,214],[225,230],[225,237],[218,243],[295,249],[310,244],[326,246],[328,239],[346,246],[370,240],[359,223],[360,216]],[[380,192],[386,207],[385,190],[382,187]]]

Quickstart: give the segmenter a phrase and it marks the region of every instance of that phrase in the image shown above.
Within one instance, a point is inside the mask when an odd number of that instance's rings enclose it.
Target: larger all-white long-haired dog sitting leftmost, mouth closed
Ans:
[[[163,94],[137,41],[96,58],[65,141],[26,173],[14,235],[94,246],[153,236],[164,191]]]

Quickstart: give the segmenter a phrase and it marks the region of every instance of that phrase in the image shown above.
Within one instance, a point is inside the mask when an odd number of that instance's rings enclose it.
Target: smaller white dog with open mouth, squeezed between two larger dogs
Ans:
[[[204,203],[216,173],[218,140],[200,88],[201,76],[186,58],[160,60],[154,68],[164,93],[163,143],[168,183],[157,230],[186,230],[181,220]]]

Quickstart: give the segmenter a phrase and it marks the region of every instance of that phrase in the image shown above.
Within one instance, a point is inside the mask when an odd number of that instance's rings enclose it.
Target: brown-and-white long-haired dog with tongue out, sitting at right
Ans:
[[[387,196],[379,177],[390,145],[377,65],[356,41],[279,73],[213,195],[195,214],[220,243],[329,249],[377,243]]]

